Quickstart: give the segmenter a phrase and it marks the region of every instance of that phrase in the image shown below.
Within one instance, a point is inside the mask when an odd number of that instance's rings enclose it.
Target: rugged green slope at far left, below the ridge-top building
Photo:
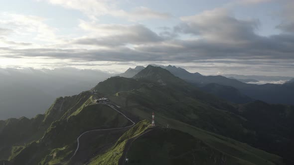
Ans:
[[[32,119],[21,117],[0,121],[0,159],[8,159],[12,146],[40,139],[52,122],[65,119],[89,104],[92,92],[85,91],[78,95],[58,97],[45,114],[36,115]]]

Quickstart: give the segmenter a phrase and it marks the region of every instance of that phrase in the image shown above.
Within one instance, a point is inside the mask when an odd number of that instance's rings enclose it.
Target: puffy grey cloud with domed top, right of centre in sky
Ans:
[[[226,8],[206,10],[180,19],[183,24],[178,29],[182,32],[222,43],[246,42],[255,37],[254,30],[259,24],[258,20],[237,19]]]

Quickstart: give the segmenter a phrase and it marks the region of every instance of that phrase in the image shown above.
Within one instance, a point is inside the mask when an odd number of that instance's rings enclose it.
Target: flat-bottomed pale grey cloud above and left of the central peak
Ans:
[[[81,21],[80,28],[87,36],[77,38],[74,43],[84,45],[120,46],[127,44],[156,43],[163,39],[141,24],[97,24]]]

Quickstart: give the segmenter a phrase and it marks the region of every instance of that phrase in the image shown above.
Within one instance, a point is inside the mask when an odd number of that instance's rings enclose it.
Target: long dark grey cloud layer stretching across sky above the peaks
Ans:
[[[287,11],[288,15],[289,12]],[[259,20],[237,19],[230,11],[222,8],[182,17],[179,25],[173,28],[160,28],[162,31],[158,34],[141,24],[97,25],[84,22],[82,27],[92,31],[93,35],[67,43],[85,45],[84,49],[0,48],[3,52],[0,57],[74,59],[84,62],[205,63],[205,60],[214,60],[214,63],[223,64],[270,66],[270,63],[274,63],[276,66],[285,66],[279,67],[281,70],[287,67],[293,70],[294,31],[290,28],[294,22],[292,18],[291,15],[285,17],[286,24],[278,26],[283,30],[280,34],[267,37],[256,33]],[[179,37],[182,34],[191,37],[189,39]],[[89,49],[87,46],[92,47]],[[98,48],[99,46],[103,48]],[[234,60],[230,61],[230,59]],[[243,69],[242,67],[240,69]]]

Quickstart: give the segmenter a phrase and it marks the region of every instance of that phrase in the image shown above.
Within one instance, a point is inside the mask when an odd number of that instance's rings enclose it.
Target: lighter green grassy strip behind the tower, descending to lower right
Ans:
[[[142,119],[148,119],[149,121],[151,119],[150,113],[141,110],[141,108],[132,109],[132,113],[140,116]],[[158,126],[165,127],[168,124],[169,128],[189,133],[206,145],[226,155],[238,158],[241,162],[250,162],[255,165],[283,165],[283,160],[279,156],[258,150],[245,143],[207,132],[178,120],[167,118],[159,112],[155,113],[155,122]],[[265,162],[268,162],[268,164],[265,164]]]

